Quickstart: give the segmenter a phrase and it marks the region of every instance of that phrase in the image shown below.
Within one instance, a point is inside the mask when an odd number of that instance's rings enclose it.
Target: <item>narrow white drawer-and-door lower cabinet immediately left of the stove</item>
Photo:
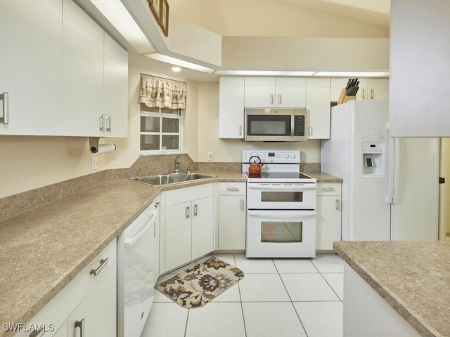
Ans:
[[[246,183],[219,183],[219,249],[245,249]]]

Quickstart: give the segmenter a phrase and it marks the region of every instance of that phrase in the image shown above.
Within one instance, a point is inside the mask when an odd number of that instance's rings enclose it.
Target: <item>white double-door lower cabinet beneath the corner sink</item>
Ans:
[[[160,272],[213,250],[213,190],[212,184],[206,184],[163,192]]]

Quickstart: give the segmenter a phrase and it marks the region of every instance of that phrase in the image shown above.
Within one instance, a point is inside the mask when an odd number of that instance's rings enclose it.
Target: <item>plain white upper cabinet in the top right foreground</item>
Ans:
[[[450,1],[391,1],[390,136],[450,136],[449,15]]]

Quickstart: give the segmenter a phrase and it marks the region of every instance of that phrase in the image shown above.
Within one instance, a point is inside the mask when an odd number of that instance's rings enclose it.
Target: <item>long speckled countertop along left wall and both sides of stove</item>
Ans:
[[[26,323],[100,253],[162,190],[241,181],[238,171],[152,187],[106,180],[0,222],[0,323]],[[341,182],[308,172],[319,182]],[[124,202],[126,200],[127,202]],[[0,337],[13,336],[0,329]]]

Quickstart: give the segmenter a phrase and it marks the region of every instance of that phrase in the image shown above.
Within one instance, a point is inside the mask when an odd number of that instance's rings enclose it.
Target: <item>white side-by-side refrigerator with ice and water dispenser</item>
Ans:
[[[332,107],[321,171],[343,179],[342,240],[437,240],[439,138],[390,138],[388,111],[384,101]]]

